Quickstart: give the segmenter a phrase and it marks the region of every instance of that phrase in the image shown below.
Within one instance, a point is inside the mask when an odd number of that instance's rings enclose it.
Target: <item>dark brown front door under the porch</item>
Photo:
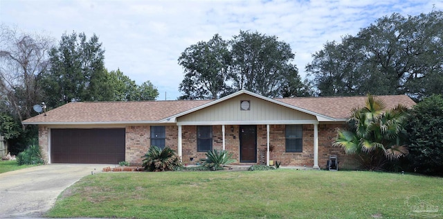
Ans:
[[[240,125],[240,162],[257,162],[257,127]]]

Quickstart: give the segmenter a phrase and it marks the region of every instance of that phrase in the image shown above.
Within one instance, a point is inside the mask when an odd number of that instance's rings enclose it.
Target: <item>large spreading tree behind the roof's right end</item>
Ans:
[[[327,42],[306,70],[322,96],[442,94],[443,12],[381,17],[341,43]],[[374,86],[377,85],[377,86]]]

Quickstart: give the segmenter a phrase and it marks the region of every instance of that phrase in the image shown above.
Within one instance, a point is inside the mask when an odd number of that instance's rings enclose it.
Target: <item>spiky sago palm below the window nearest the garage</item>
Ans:
[[[151,146],[142,158],[145,158],[143,159],[143,168],[151,172],[175,170],[181,166],[179,156],[170,147],[161,150],[157,146]]]

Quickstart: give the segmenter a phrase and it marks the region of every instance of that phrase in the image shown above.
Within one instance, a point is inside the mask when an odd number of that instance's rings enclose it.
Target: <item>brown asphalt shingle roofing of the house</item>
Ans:
[[[398,104],[412,107],[406,95],[379,96],[388,109]],[[366,96],[276,98],[275,100],[334,119],[346,119],[354,107],[365,104]],[[138,102],[75,102],[67,103],[24,121],[24,123],[131,123],[161,121],[214,100],[162,100]]]

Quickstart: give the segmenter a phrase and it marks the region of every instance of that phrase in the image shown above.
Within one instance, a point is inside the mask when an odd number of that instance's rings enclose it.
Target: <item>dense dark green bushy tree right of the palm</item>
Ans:
[[[443,175],[443,96],[433,95],[415,105],[406,130],[409,169]]]

